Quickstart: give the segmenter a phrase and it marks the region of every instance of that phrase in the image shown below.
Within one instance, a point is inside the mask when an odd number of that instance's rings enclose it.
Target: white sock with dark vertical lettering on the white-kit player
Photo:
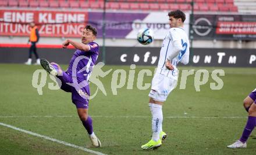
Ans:
[[[163,112],[162,105],[152,104],[152,139],[159,140],[159,134],[162,130]]]

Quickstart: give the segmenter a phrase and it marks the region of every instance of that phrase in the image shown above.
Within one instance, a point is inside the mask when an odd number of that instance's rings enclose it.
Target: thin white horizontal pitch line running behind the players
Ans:
[[[0,118],[22,118],[22,117],[40,117],[40,118],[51,118],[51,117],[78,117],[78,116],[0,116]],[[151,116],[91,116],[91,117],[99,117],[99,118],[150,118]],[[222,117],[214,117],[214,116],[164,116],[165,119],[246,119],[248,117],[241,116],[222,116]]]

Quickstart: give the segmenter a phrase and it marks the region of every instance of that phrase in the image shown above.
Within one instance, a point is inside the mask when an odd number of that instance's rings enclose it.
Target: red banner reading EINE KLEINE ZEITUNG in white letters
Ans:
[[[0,35],[29,36],[32,21],[40,36],[80,37],[88,12],[0,10]]]

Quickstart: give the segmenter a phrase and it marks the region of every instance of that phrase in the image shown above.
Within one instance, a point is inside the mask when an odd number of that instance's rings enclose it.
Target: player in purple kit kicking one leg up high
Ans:
[[[93,120],[88,115],[90,97],[88,79],[99,54],[99,46],[94,42],[96,37],[97,29],[91,25],[86,25],[81,35],[81,43],[70,39],[63,42],[63,48],[72,45],[77,49],[70,60],[67,71],[62,71],[61,67],[55,62],[50,64],[45,59],[41,59],[40,62],[47,72],[61,80],[61,89],[72,94],[72,102],[76,105],[77,113],[89,134],[93,146],[101,147],[101,142],[93,132]]]

